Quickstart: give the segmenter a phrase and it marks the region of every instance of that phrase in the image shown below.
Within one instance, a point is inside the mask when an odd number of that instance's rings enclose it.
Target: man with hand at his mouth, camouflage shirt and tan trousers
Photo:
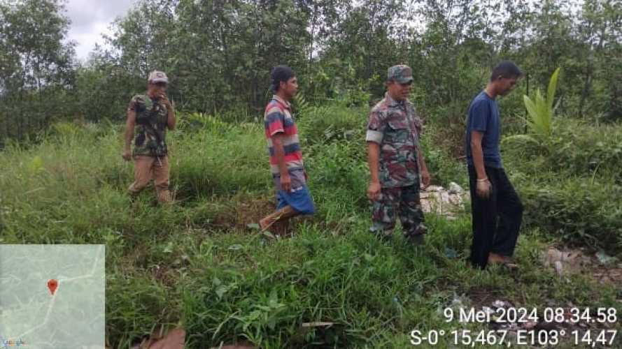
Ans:
[[[175,110],[167,98],[169,79],[161,71],[149,74],[146,94],[132,97],[127,107],[125,148],[122,157],[134,158],[134,183],[129,193],[134,198],[151,179],[159,202],[171,201],[169,192],[169,157],[167,151],[167,128],[175,128]],[[134,150],[130,144],[134,138]]]

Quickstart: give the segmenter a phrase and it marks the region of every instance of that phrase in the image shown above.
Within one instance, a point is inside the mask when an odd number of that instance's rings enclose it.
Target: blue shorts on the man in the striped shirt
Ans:
[[[282,209],[289,205],[299,214],[315,213],[316,208],[313,207],[313,198],[311,198],[311,193],[309,193],[309,187],[306,186],[304,171],[291,171],[290,177],[292,178],[292,189],[289,193],[281,189],[281,178],[278,176],[274,177],[274,184],[276,186],[276,209]]]

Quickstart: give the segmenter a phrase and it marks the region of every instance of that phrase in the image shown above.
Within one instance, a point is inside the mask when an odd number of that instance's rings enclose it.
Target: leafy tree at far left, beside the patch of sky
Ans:
[[[4,137],[22,139],[43,128],[52,117],[71,112],[74,44],[63,43],[69,20],[62,10],[58,0],[0,3]]]

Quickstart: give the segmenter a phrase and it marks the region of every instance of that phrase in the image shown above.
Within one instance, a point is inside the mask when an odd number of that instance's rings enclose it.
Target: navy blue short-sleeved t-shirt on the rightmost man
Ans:
[[[501,119],[497,101],[490,98],[485,91],[481,91],[469,105],[467,114],[467,135],[465,149],[467,163],[473,165],[471,153],[471,131],[481,131],[481,150],[483,151],[483,163],[491,168],[502,168],[499,141],[501,138]]]

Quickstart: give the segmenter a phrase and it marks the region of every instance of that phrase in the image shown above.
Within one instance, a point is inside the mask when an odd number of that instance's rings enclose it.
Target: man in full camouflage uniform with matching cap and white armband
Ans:
[[[421,120],[408,100],[413,82],[409,66],[392,66],[387,93],[369,114],[367,155],[372,174],[367,197],[373,202],[370,230],[388,239],[400,216],[404,237],[423,242],[427,231],[419,200],[420,180],[430,184],[430,174],[419,148]]]

